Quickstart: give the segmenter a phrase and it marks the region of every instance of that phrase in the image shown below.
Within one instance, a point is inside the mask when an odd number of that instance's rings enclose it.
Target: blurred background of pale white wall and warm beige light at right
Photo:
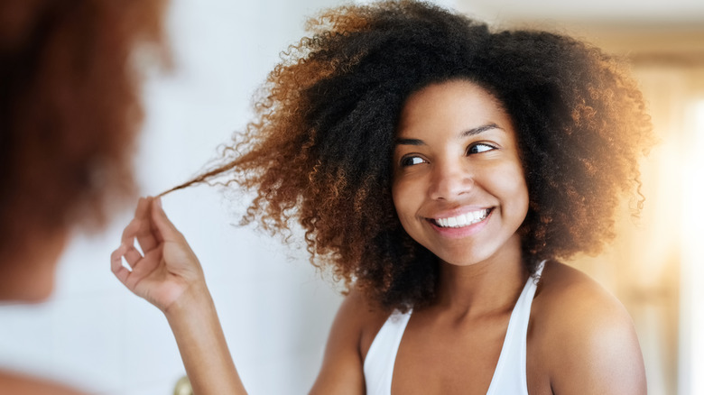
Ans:
[[[661,139],[642,169],[645,209],[635,219],[625,202],[616,243],[573,264],[634,317],[650,393],[704,394],[704,2],[438,3],[501,27],[570,32],[631,61]],[[172,0],[176,69],[144,91],[136,159],[143,194],[189,179],[213,158],[245,125],[250,97],[278,53],[303,35],[305,16],[338,4]],[[300,249],[233,225],[243,206],[216,188],[190,188],[163,203],[199,255],[249,392],[305,393],[340,301],[334,287]],[[165,319],[109,270],[130,215],[104,234],[77,234],[48,303],[0,307],[0,365],[102,394],[172,393],[183,367]]]

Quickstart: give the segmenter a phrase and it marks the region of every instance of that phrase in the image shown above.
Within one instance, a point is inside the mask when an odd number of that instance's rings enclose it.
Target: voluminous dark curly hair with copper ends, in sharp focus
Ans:
[[[651,139],[635,82],[616,60],[550,32],[492,32],[416,1],[330,9],[283,53],[257,117],[219,165],[255,190],[244,223],[305,229],[313,264],[384,308],[435,294],[437,258],[406,234],[391,198],[394,133],[404,101],[432,83],[465,79],[513,117],[529,188],[524,262],[597,253],[614,236],[622,195],[637,192]],[[642,204],[642,197],[639,205]]]

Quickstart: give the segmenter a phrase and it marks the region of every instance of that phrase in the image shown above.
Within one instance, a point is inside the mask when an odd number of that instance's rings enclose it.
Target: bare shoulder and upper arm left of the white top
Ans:
[[[351,291],[332,323],[322,367],[310,393],[365,393],[364,358],[384,320],[383,309]]]

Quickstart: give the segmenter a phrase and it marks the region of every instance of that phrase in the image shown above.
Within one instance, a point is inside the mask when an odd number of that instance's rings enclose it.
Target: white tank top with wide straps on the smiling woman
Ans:
[[[526,281],[511,312],[504,345],[486,395],[528,395],[528,381],[525,376],[526,336],[533,296],[544,263],[541,262],[533,277]],[[394,311],[376,334],[364,363],[366,395],[391,395],[396,353],[411,313],[412,310],[405,314]]]

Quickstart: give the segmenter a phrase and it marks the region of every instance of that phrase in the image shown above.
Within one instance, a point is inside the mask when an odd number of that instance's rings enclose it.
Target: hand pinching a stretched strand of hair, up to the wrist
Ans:
[[[135,238],[142,253],[134,246]],[[123,266],[123,258],[131,270]],[[208,292],[198,258],[164,213],[160,198],[139,199],[110,261],[125,287],[164,313],[187,291]]]

